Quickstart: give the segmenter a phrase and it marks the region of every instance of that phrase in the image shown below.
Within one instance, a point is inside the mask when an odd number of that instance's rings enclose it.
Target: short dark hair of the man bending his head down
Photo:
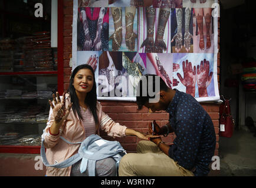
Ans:
[[[144,76],[144,78],[143,78]],[[145,105],[145,103],[149,102],[149,99],[155,98],[155,96],[149,95],[149,85],[153,85],[153,91],[156,92],[156,84],[160,85],[160,90],[168,91],[170,88],[166,85],[165,81],[157,75],[151,75],[146,74],[143,75],[142,78],[140,78],[139,83],[137,85],[137,93],[136,93],[136,102],[138,105],[138,109],[142,109],[142,106]],[[152,76],[152,82],[149,82],[149,76]],[[160,82],[156,83],[156,77],[159,77]],[[143,79],[147,80],[147,82],[143,82]],[[151,80],[151,79],[150,79]],[[143,90],[146,89],[146,96],[143,96]]]

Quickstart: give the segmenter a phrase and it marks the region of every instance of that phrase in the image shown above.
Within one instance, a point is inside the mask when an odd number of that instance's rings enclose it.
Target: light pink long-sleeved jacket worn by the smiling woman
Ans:
[[[70,97],[66,94],[66,107],[70,103]],[[63,136],[65,139],[67,139],[70,142],[82,142],[84,139],[86,139],[86,136],[89,136],[93,131],[91,129],[91,120],[93,119],[93,115],[91,114],[90,110],[87,109],[87,112],[82,112],[83,115],[86,115],[87,117],[83,120],[80,120],[75,115],[72,108],[70,110],[70,114],[68,115],[67,119],[63,123],[63,125],[60,127],[60,133],[57,136],[50,135],[49,129],[54,122],[54,116],[52,113],[52,109],[50,109],[49,117],[47,126],[44,129],[44,133],[42,134],[42,139],[44,139],[44,146],[47,148],[46,156],[47,160],[50,164],[56,164],[63,162],[65,159],[68,159],[69,157],[73,156],[78,152],[78,149],[80,147],[79,144],[77,145],[70,145],[66,142],[64,142],[62,139],[60,139],[60,136]],[[123,137],[125,135],[126,126],[122,126],[119,123],[115,123],[108,115],[106,115],[101,110],[101,105],[99,102],[97,102],[97,115],[99,117],[100,126],[99,128],[101,130],[104,130],[107,132],[107,135],[112,137]],[[88,122],[86,122],[86,119],[88,119]],[[94,122],[94,120],[93,120]],[[88,123],[88,124],[87,124]],[[87,127],[87,131],[84,128],[84,126]],[[94,123],[95,126],[95,123]],[[95,129],[96,130],[96,129]],[[90,132],[89,134],[87,134]],[[99,129],[98,129],[99,132]],[[53,167],[47,167],[46,175],[47,176],[70,176],[71,166],[66,167],[63,169],[57,169]]]

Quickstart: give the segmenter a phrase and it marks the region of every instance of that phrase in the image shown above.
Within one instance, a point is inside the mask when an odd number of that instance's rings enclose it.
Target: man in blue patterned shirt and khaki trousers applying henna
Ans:
[[[149,79],[150,76],[153,80]],[[140,79],[136,102],[139,109],[146,106],[153,112],[166,110],[169,113],[168,125],[159,127],[154,121],[155,128],[149,125],[149,132],[167,136],[174,131],[176,138],[170,146],[160,137],[151,139],[151,142],[140,141],[137,153],[123,156],[119,176],[207,176],[216,145],[211,117],[191,95],[168,88],[159,76],[160,83],[156,83],[156,77],[145,75],[146,83]],[[157,84],[160,91],[155,91],[156,95],[152,96],[148,88],[151,85],[156,88]],[[143,87],[147,96],[143,96]],[[150,103],[150,99],[157,95],[159,101]]]

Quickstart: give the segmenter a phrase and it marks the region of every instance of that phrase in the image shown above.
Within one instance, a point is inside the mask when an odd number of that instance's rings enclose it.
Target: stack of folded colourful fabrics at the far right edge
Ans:
[[[242,86],[245,90],[256,90],[256,61],[244,63],[242,73]]]

